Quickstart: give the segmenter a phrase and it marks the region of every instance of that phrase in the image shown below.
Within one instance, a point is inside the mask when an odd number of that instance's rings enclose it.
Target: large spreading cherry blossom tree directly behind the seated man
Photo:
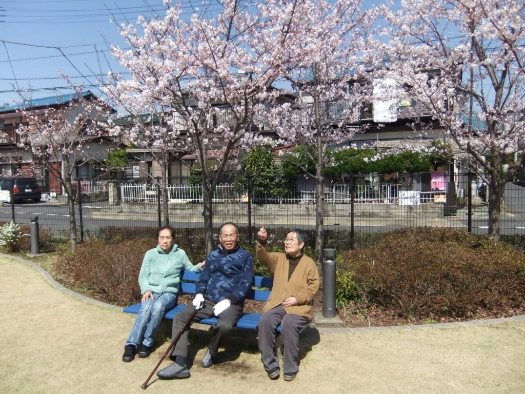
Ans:
[[[171,140],[163,149],[193,153],[201,168],[207,251],[214,247],[215,187],[239,151],[264,142],[256,131],[265,102],[279,93],[271,86],[283,65],[301,55],[291,48],[306,3],[225,0],[222,11],[212,12],[203,2],[186,18],[165,1],[164,17],[120,27],[130,49],[113,47],[112,53],[130,76],[110,74],[116,85],[108,95],[131,114],[171,113],[165,129]]]

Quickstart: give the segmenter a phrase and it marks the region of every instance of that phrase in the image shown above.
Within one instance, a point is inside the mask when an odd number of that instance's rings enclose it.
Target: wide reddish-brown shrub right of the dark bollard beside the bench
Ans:
[[[468,318],[522,307],[525,253],[445,228],[403,229],[344,253],[360,293],[402,317]]]

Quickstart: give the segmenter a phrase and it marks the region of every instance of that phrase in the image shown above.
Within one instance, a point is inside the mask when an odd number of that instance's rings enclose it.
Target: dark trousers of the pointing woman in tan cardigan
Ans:
[[[259,330],[259,351],[266,371],[279,367],[275,345],[276,328],[279,324],[283,345],[282,371],[285,374],[295,374],[299,370],[299,331],[307,326],[308,319],[299,315],[288,315],[282,305],[262,314],[257,329]]]

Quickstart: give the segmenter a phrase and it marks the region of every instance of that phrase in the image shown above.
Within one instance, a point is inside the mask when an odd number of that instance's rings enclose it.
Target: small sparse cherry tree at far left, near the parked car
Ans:
[[[78,242],[74,175],[82,164],[102,165],[115,148],[115,143],[103,138],[108,135],[107,121],[114,110],[88,93],[77,88],[64,106],[22,109],[20,115],[25,121],[17,129],[18,147],[30,153],[33,168],[47,170],[67,193],[71,251]]]

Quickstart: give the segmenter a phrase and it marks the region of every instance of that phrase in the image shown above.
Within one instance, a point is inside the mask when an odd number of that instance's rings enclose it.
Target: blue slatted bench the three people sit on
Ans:
[[[180,293],[183,294],[195,294],[195,282],[198,279],[199,274],[192,271],[183,271]],[[274,284],[274,278],[265,276],[254,276],[251,291],[249,292],[246,299],[253,299],[256,301],[266,302],[270,296],[271,287]],[[137,315],[140,310],[141,303],[133,304],[123,309],[125,313],[131,313]],[[173,319],[177,314],[181,313],[186,309],[186,305],[176,305],[173,309],[166,312],[165,319]],[[237,328],[246,328],[255,330],[259,323],[261,315],[258,313],[243,313],[243,316],[237,322]],[[199,323],[214,325],[217,323],[216,317],[210,317],[202,319]],[[281,331],[281,327],[277,327],[277,331]]]

